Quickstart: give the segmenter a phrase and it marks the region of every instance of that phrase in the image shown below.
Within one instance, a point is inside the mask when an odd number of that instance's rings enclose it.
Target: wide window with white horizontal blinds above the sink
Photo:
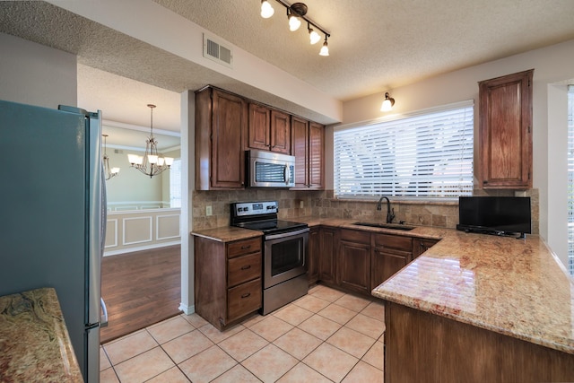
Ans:
[[[335,196],[473,193],[473,101],[335,130]]]

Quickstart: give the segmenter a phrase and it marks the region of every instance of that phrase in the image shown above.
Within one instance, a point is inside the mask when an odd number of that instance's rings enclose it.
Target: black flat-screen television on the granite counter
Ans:
[[[524,237],[532,232],[530,197],[458,197],[457,230]]]

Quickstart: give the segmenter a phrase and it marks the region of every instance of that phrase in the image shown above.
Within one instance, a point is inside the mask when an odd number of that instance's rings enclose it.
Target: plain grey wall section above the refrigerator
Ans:
[[[0,100],[57,109],[76,106],[76,57],[0,33]]]

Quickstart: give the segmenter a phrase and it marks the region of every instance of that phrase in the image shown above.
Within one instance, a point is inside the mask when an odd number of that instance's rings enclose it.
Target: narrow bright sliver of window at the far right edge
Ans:
[[[568,271],[574,275],[574,85],[568,87]]]

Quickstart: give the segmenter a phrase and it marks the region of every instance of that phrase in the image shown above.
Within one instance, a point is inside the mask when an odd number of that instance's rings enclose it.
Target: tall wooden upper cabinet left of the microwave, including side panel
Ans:
[[[206,87],[196,91],[196,189],[245,187],[245,100]]]

